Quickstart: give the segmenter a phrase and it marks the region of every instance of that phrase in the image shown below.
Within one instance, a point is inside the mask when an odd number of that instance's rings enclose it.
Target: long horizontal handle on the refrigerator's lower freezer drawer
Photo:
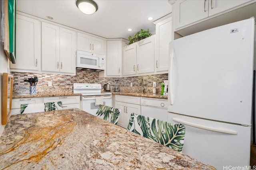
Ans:
[[[237,135],[237,131],[231,131],[231,130],[228,130],[228,129],[220,129],[220,128],[216,128],[216,127],[199,125],[199,124],[188,122],[188,121],[184,121],[182,119],[175,118],[175,117],[172,118],[172,120],[176,121],[178,123],[182,123],[184,125],[196,127],[196,128],[199,128],[199,129],[204,129],[204,130],[207,130],[207,131],[214,131],[214,132],[220,132],[220,133],[227,133],[227,134],[231,134],[231,135]]]

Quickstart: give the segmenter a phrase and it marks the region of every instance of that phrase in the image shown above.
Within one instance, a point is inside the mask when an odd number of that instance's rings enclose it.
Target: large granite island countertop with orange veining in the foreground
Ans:
[[[202,169],[214,167],[80,109],[12,115],[0,169]]]

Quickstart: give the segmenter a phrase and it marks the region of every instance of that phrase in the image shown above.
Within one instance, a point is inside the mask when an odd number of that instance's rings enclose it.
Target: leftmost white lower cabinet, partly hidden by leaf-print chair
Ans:
[[[17,98],[12,99],[12,111],[11,115],[20,114],[21,104],[36,104],[44,102],[43,98]]]

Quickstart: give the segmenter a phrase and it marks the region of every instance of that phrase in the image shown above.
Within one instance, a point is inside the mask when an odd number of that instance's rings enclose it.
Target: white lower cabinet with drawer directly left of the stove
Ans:
[[[46,102],[62,102],[63,109],[80,109],[80,96],[46,97],[44,103]]]

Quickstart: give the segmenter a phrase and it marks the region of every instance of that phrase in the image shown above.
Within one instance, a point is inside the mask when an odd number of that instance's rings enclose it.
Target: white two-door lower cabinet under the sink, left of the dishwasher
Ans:
[[[121,110],[117,125],[127,129],[131,113],[140,115],[140,97],[116,95],[115,107]]]

